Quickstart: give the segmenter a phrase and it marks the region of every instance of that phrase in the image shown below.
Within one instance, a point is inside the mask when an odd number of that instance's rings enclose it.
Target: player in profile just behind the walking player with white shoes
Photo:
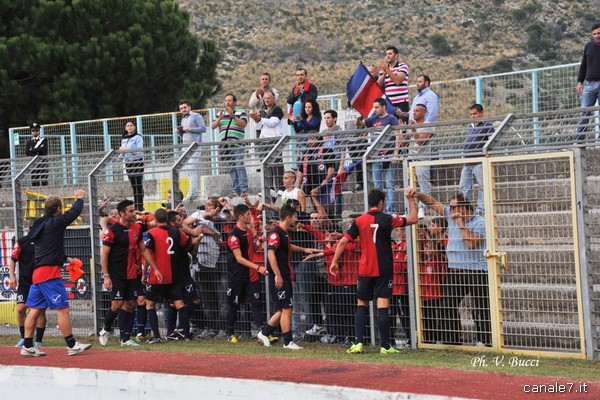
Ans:
[[[250,303],[252,320],[262,328],[263,316],[260,299],[259,275],[267,275],[267,268],[251,260],[254,255],[252,214],[246,204],[233,209],[236,224],[227,236],[227,340],[237,343],[235,323],[240,304]]]

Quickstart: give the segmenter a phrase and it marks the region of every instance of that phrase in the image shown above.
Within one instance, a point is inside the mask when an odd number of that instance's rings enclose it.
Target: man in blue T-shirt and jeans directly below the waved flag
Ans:
[[[375,99],[373,102],[373,110],[375,113],[367,118],[362,119],[362,117],[356,118],[356,126],[367,126],[369,128],[381,127],[381,130],[388,125],[396,126],[398,125],[398,118],[395,116],[388,114],[386,109],[385,99],[379,97]],[[373,132],[373,135],[379,135],[381,132]],[[390,150],[383,150],[379,153],[380,158],[384,158],[386,155],[389,157],[391,147],[393,147],[394,156],[398,156],[399,147],[400,147],[400,135],[395,135],[395,142],[392,145],[387,144],[386,148],[390,148]],[[375,189],[383,190],[383,183],[385,179],[385,189],[387,191],[388,201],[385,202],[385,212],[388,214],[394,213],[394,207],[396,204],[396,191],[394,189],[394,177],[396,175],[396,160],[392,161],[379,161],[373,163],[373,181],[375,184]]]

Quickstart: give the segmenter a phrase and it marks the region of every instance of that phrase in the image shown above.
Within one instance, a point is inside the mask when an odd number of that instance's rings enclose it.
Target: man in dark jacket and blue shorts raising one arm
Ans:
[[[33,331],[46,308],[54,308],[58,311],[58,326],[67,342],[68,355],[74,356],[83,353],[92,346],[79,343],[73,337],[69,318],[69,298],[60,272],[60,267],[65,261],[65,230],[81,214],[83,196],[85,196],[85,191],[76,190],[76,200],[64,215],[60,198],[48,197],[44,203],[44,216],[35,221],[29,231],[29,237],[33,240],[35,248],[35,266],[26,303],[31,311],[25,319],[22,356],[46,355],[33,346]]]

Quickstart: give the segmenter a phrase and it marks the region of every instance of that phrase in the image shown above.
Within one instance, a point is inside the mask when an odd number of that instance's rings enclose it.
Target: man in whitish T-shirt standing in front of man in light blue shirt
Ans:
[[[427,107],[423,104],[417,104],[413,111],[414,119],[408,123],[410,126],[411,140],[409,152],[413,155],[431,155],[431,137],[433,136],[433,127],[417,127],[425,123],[425,114]],[[430,157],[427,157],[429,159]],[[416,167],[417,182],[422,193],[429,194],[431,191],[431,166],[420,165]],[[419,219],[425,218],[425,205],[419,204]]]

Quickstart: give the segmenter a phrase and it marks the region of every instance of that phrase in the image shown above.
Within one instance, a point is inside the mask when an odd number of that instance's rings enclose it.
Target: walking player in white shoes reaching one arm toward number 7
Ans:
[[[281,325],[283,347],[290,350],[302,349],[292,341],[292,280],[294,272],[290,266],[290,252],[301,251],[312,254],[318,253],[319,250],[299,247],[290,242],[288,231],[296,226],[297,213],[296,207],[291,204],[282,206],[279,210],[281,222],[269,232],[267,237],[269,289],[275,314],[263,326],[262,332],[258,332],[258,338],[267,347],[271,346],[269,336],[275,331],[277,325]]]

